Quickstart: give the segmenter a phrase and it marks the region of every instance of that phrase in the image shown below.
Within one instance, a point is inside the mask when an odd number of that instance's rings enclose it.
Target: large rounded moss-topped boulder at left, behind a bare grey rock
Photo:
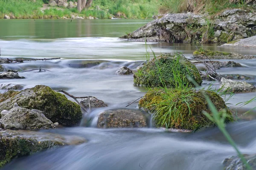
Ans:
[[[76,125],[82,118],[80,106],[66,96],[45,85],[36,85],[23,91],[8,91],[0,94],[0,111],[10,110],[14,103],[27,109],[38,109],[52,122]]]

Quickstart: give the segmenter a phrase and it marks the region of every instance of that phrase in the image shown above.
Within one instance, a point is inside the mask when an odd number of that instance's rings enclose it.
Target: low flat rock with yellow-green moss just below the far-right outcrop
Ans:
[[[195,59],[253,59],[255,56],[211,50],[194,51]]]

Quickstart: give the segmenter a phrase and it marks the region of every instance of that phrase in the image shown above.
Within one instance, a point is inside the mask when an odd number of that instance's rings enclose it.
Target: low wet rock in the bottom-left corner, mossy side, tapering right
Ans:
[[[0,129],[0,168],[12,159],[58,146],[81,144],[86,139],[29,130]]]

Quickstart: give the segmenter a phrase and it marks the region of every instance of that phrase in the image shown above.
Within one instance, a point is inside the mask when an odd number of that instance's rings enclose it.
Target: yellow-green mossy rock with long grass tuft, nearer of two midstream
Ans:
[[[203,114],[203,111],[211,114],[207,101],[204,98],[204,93],[209,96],[218,111],[223,109],[227,111],[228,116],[225,122],[232,122],[233,117],[225,102],[213,91],[167,89],[167,97],[163,89],[152,88],[140,100],[139,107],[156,113],[154,115],[156,127],[187,130],[211,127],[215,124]],[[171,108],[170,117],[165,119],[170,105],[174,105],[175,107]],[[176,112],[174,108],[177,109]]]

